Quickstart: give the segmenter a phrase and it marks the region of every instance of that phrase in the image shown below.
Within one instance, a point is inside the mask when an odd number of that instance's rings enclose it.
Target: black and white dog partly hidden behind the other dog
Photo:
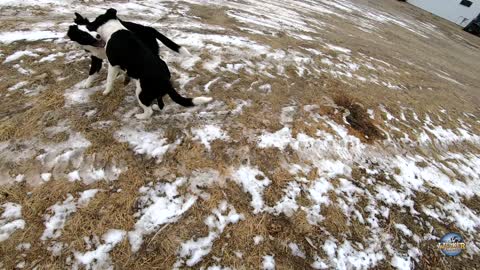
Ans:
[[[158,46],[157,39],[160,40],[165,46],[171,49],[174,52],[183,54],[183,55],[190,55],[187,49],[184,47],[176,44],[160,32],[158,32],[155,28],[144,26],[141,24],[127,22],[119,20],[123,26],[125,26],[128,30],[132,31],[137,35],[142,42],[147,45],[153,53],[159,54],[160,48]],[[83,87],[88,88],[91,87],[93,81],[98,77],[98,73],[102,68],[103,61],[102,59],[106,59],[105,53],[105,42],[102,41],[100,38],[96,38],[96,34],[88,33],[87,31],[81,30],[78,26],[88,25],[90,21],[80,15],[79,13],[75,12],[75,19],[74,22],[76,25],[71,25],[68,29],[67,36],[74,42],[78,43],[84,50],[90,52],[91,56],[91,65],[89,71],[89,77],[85,81]],[[125,80],[125,83],[128,83],[128,77]]]

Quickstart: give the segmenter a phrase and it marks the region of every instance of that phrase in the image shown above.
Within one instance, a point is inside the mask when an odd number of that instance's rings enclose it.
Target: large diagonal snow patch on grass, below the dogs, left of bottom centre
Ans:
[[[176,222],[193,206],[197,200],[195,196],[180,196],[177,191],[185,183],[184,178],[179,178],[174,183],[159,183],[140,188],[141,210],[136,214],[139,219],[135,223],[135,229],[128,233],[133,252],[140,249],[144,235],[157,232],[162,225]]]

